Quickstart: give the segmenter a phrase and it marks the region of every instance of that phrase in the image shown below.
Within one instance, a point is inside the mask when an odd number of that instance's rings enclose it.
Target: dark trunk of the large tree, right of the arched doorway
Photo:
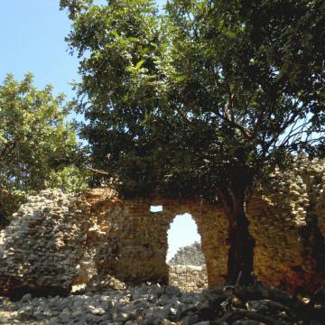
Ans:
[[[245,192],[245,187],[218,189],[229,222],[228,284],[249,284],[254,281],[255,240],[249,234],[245,211]]]

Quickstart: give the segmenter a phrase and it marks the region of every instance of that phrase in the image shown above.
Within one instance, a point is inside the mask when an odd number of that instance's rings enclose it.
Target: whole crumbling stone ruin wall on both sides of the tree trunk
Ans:
[[[268,190],[247,202],[255,237],[255,274],[289,291],[315,290],[324,280],[324,163],[274,174]],[[151,212],[151,205],[163,205]],[[198,225],[209,287],[224,283],[228,220],[202,200],[118,200],[110,190],[77,197],[45,190],[30,197],[0,233],[0,293],[70,292],[92,274],[126,282],[168,283],[167,230],[189,212]]]

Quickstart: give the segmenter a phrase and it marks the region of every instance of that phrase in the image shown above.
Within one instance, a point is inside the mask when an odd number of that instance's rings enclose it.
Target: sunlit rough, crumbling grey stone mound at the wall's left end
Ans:
[[[88,218],[79,197],[60,190],[30,196],[0,232],[0,292],[68,294],[85,255]],[[45,274],[40,276],[40,274]]]

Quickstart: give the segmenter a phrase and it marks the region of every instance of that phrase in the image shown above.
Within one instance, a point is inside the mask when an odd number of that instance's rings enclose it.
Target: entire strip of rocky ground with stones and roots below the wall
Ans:
[[[121,289],[94,287],[68,297],[0,297],[0,324],[321,325],[324,292],[309,298],[255,284],[181,292],[145,283]]]

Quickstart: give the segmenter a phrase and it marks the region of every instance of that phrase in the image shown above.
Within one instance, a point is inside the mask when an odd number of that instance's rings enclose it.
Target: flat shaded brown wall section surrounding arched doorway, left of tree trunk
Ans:
[[[163,206],[152,212],[151,206]],[[167,231],[176,215],[190,213],[198,226],[209,286],[224,283],[228,259],[228,221],[222,209],[201,200],[97,200],[91,207],[103,229],[96,264],[98,274],[140,283],[168,283]],[[97,232],[98,234],[98,232]]]

